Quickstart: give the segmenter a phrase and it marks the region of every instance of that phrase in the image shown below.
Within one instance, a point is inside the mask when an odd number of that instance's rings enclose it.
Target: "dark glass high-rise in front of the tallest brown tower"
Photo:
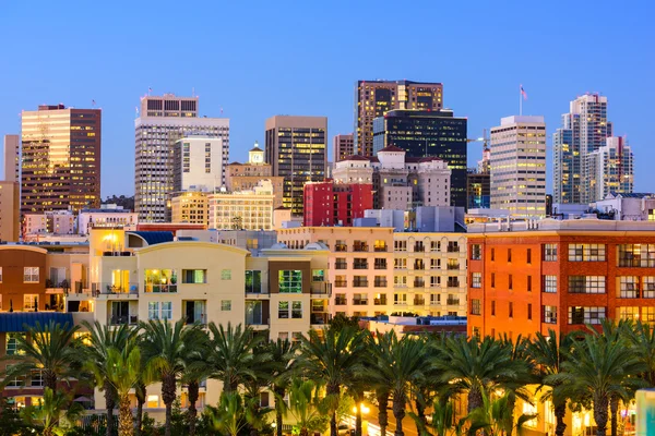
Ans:
[[[392,110],[373,122],[373,150],[395,146],[407,158],[444,160],[452,170],[450,205],[466,207],[466,122],[452,110]]]

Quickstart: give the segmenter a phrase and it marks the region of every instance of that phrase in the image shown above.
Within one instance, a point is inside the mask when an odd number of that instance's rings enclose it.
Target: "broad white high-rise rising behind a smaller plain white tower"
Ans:
[[[222,166],[229,157],[229,120],[199,117],[198,97],[146,96],[134,120],[134,208],[140,222],[163,222],[174,192],[174,150],[177,141],[203,134],[222,141]],[[225,184],[222,177],[221,185]]]

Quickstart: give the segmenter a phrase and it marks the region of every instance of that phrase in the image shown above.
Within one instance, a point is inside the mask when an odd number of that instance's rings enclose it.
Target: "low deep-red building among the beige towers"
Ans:
[[[373,208],[373,185],[370,183],[334,183],[331,180],[305,185],[305,217],[307,226],[353,226]]]

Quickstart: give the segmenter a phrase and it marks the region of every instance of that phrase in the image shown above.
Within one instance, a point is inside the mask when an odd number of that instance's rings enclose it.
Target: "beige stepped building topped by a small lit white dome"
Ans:
[[[282,207],[284,192],[284,177],[272,175],[273,167],[264,162],[264,150],[258,143],[248,152],[248,162],[231,162],[227,166],[225,185],[227,192],[249,191],[259,184],[263,179],[270,180],[273,184],[273,208]]]

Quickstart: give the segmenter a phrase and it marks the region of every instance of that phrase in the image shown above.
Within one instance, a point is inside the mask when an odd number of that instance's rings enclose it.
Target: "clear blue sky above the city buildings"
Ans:
[[[23,109],[95,99],[103,196],[133,194],[134,107],[148,87],[194,88],[209,117],[223,108],[241,160],[273,114],[350,132],[357,80],[442,82],[469,137],[516,114],[523,84],[524,114],[545,116],[549,135],[571,99],[606,95],[636,156],[635,191],[653,192],[654,15],[647,1],[0,0],[0,135],[20,133]]]

